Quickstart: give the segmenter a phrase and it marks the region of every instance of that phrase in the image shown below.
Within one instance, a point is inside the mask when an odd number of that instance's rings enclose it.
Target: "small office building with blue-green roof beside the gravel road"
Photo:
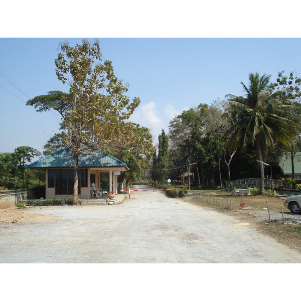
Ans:
[[[27,166],[29,169],[46,171],[46,199],[68,199],[73,196],[74,160],[69,147],[58,150]],[[108,190],[117,194],[118,175],[129,171],[126,164],[100,149],[85,150],[78,156],[78,198],[92,197],[91,185],[103,190],[101,181],[107,181]]]

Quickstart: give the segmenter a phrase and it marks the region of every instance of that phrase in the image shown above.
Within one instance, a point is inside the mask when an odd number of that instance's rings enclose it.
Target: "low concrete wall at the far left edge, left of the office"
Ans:
[[[0,190],[0,209],[12,208],[30,199],[34,199],[34,193],[30,189]]]

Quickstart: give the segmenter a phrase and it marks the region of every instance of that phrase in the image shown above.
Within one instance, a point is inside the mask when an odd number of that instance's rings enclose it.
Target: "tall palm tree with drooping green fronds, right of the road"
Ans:
[[[297,135],[298,125],[289,119],[289,111],[295,108],[279,97],[281,91],[272,92],[269,78],[258,73],[249,74],[248,87],[241,82],[245,97],[228,94],[229,110],[234,116],[234,125],[229,129],[228,149],[256,144],[257,159],[265,160],[268,147],[279,140],[291,145]],[[283,92],[283,91],[282,91]],[[264,170],[260,163],[260,194],[264,194]]]

